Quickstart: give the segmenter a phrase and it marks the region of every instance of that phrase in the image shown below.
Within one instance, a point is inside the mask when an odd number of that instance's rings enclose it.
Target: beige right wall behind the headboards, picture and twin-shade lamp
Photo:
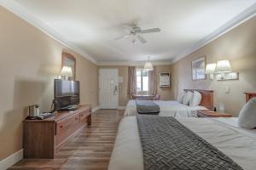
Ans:
[[[208,43],[189,56],[172,65],[172,93],[183,88],[201,88],[214,90],[214,105],[224,103],[225,111],[237,116],[245,104],[246,91],[256,91],[256,17],[241,26],[227,32],[222,37]],[[230,59],[233,71],[239,72],[239,80],[213,82],[208,80],[191,81],[191,60],[202,55],[207,56],[207,63],[220,59]],[[231,93],[225,94],[230,87]]]

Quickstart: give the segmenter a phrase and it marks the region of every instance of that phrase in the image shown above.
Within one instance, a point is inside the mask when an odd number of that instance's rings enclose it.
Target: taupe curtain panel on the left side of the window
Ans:
[[[128,94],[136,94],[137,93],[137,72],[136,66],[128,67]]]

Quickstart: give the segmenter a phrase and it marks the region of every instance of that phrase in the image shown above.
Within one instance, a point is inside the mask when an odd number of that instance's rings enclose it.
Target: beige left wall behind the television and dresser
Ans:
[[[77,59],[81,103],[98,105],[97,67],[42,31],[0,7],[0,160],[22,148],[26,106],[49,111],[54,78],[61,71],[61,52]],[[88,81],[90,80],[90,81]]]

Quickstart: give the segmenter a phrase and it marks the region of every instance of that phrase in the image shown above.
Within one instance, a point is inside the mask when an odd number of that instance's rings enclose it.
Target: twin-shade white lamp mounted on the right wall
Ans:
[[[206,74],[210,75],[210,79],[213,80],[216,77],[218,81],[224,80],[238,80],[238,72],[232,72],[229,60],[219,60],[217,64],[207,64]]]

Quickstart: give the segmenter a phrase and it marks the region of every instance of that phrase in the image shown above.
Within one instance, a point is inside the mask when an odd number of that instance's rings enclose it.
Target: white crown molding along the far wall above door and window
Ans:
[[[172,61],[151,61],[153,65],[172,65]],[[97,62],[97,65],[130,65],[130,66],[141,66],[144,65],[145,61],[113,61],[113,62]]]

